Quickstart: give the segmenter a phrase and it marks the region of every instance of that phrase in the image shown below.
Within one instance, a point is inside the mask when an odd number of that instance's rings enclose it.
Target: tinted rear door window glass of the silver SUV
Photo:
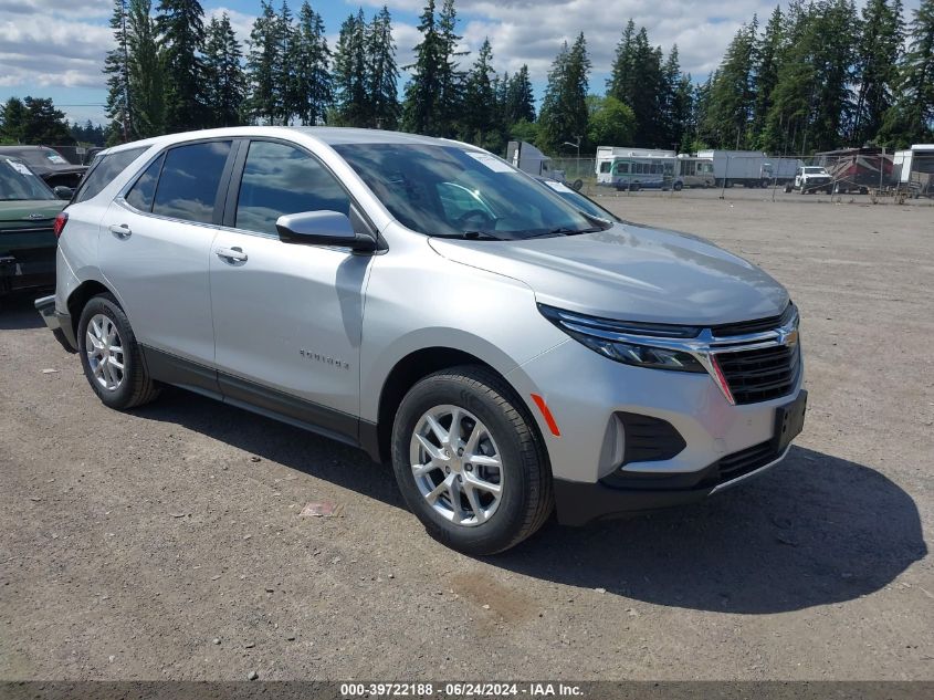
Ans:
[[[153,213],[211,223],[230,142],[178,146],[166,154]]]

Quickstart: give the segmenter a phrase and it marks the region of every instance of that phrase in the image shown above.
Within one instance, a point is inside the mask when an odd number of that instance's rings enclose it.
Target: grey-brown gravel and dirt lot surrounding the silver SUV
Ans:
[[[934,679],[934,209],[717,194],[602,201],[789,288],[797,447],[483,561],[363,452],[180,390],[114,412],[30,300],[1,311],[0,678]]]

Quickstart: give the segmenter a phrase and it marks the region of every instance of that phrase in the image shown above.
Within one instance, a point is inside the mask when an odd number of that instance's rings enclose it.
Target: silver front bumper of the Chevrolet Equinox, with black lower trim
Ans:
[[[631,367],[576,341],[507,378],[521,394],[543,397],[557,424],[558,436],[531,406],[548,450],[558,520],[566,524],[699,501],[768,469],[788,448],[776,437],[780,410],[806,400],[802,370],[781,397],[733,405],[707,374]],[[632,414],[669,424],[683,447],[660,450],[660,459],[627,459],[620,416]]]

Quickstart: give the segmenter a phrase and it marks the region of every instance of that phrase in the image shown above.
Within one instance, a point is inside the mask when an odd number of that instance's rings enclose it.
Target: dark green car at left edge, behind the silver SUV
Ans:
[[[42,181],[17,158],[0,156],[0,296],[55,283],[55,217],[72,190]]]

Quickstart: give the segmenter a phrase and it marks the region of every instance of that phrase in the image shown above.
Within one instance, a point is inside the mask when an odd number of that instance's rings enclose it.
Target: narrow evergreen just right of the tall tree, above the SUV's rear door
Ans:
[[[204,42],[204,93],[213,126],[241,123],[246,80],[240,63],[243,52],[227,12],[211,18]]]

